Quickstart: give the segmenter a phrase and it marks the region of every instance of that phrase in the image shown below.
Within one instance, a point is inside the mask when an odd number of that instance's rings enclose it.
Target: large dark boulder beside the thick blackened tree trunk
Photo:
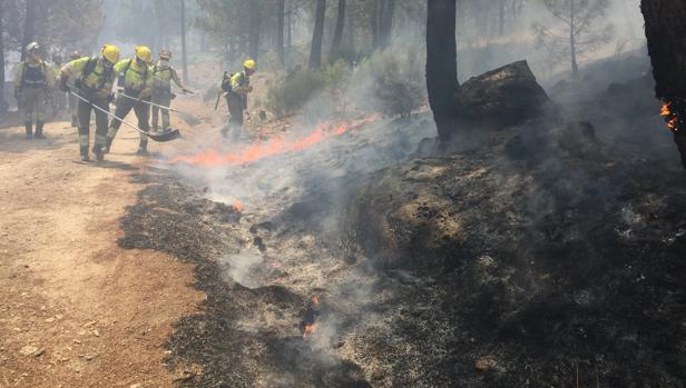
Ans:
[[[496,129],[517,126],[552,108],[527,61],[473,77],[460,87],[460,115],[465,121]]]

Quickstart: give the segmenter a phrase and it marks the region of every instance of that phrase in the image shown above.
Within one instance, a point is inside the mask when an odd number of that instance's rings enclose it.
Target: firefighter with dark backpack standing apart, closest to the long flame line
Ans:
[[[222,135],[226,138],[228,131],[233,133],[234,140],[241,139],[243,129],[243,111],[247,109],[247,94],[253,91],[251,87],[251,76],[255,73],[257,63],[248,59],[243,62],[243,71],[238,71],[222,81],[222,90],[226,92],[226,105],[228,106],[228,125],[222,128]]]

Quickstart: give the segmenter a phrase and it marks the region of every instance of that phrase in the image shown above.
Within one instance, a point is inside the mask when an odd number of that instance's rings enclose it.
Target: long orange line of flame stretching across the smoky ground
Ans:
[[[219,153],[216,149],[208,149],[195,156],[178,157],[174,159],[171,163],[176,165],[183,162],[196,167],[248,165],[277,155],[302,151],[325,139],[341,136],[359,127],[372,123],[376,118],[378,116],[374,115],[339,126],[322,123],[316,126],[312,133],[302,139],[286,140],[282,137],[276,137],[265,142],[256,141],[245,149],[225,155]]]

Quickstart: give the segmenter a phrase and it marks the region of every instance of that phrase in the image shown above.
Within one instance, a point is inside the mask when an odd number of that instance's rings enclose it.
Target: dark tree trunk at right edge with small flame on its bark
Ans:
[[[670,103],[674,140],[686,168],[686,2],[641,0],[655,96]]]

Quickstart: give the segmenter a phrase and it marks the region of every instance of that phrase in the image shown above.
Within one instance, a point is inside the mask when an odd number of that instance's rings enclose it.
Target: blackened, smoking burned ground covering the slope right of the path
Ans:
[[[199,367],[179,384],[684,381],[684,173],[666,137],[640,147],[635,126],[664,130],[649,102],[631,121],[581,102],[448,155],[413,158],[420,115],[218,176],[138,176],[120,245],[195,263],[207,294],[168,341],[170,368]],[[206,199],[236,192],[243,212]]]

